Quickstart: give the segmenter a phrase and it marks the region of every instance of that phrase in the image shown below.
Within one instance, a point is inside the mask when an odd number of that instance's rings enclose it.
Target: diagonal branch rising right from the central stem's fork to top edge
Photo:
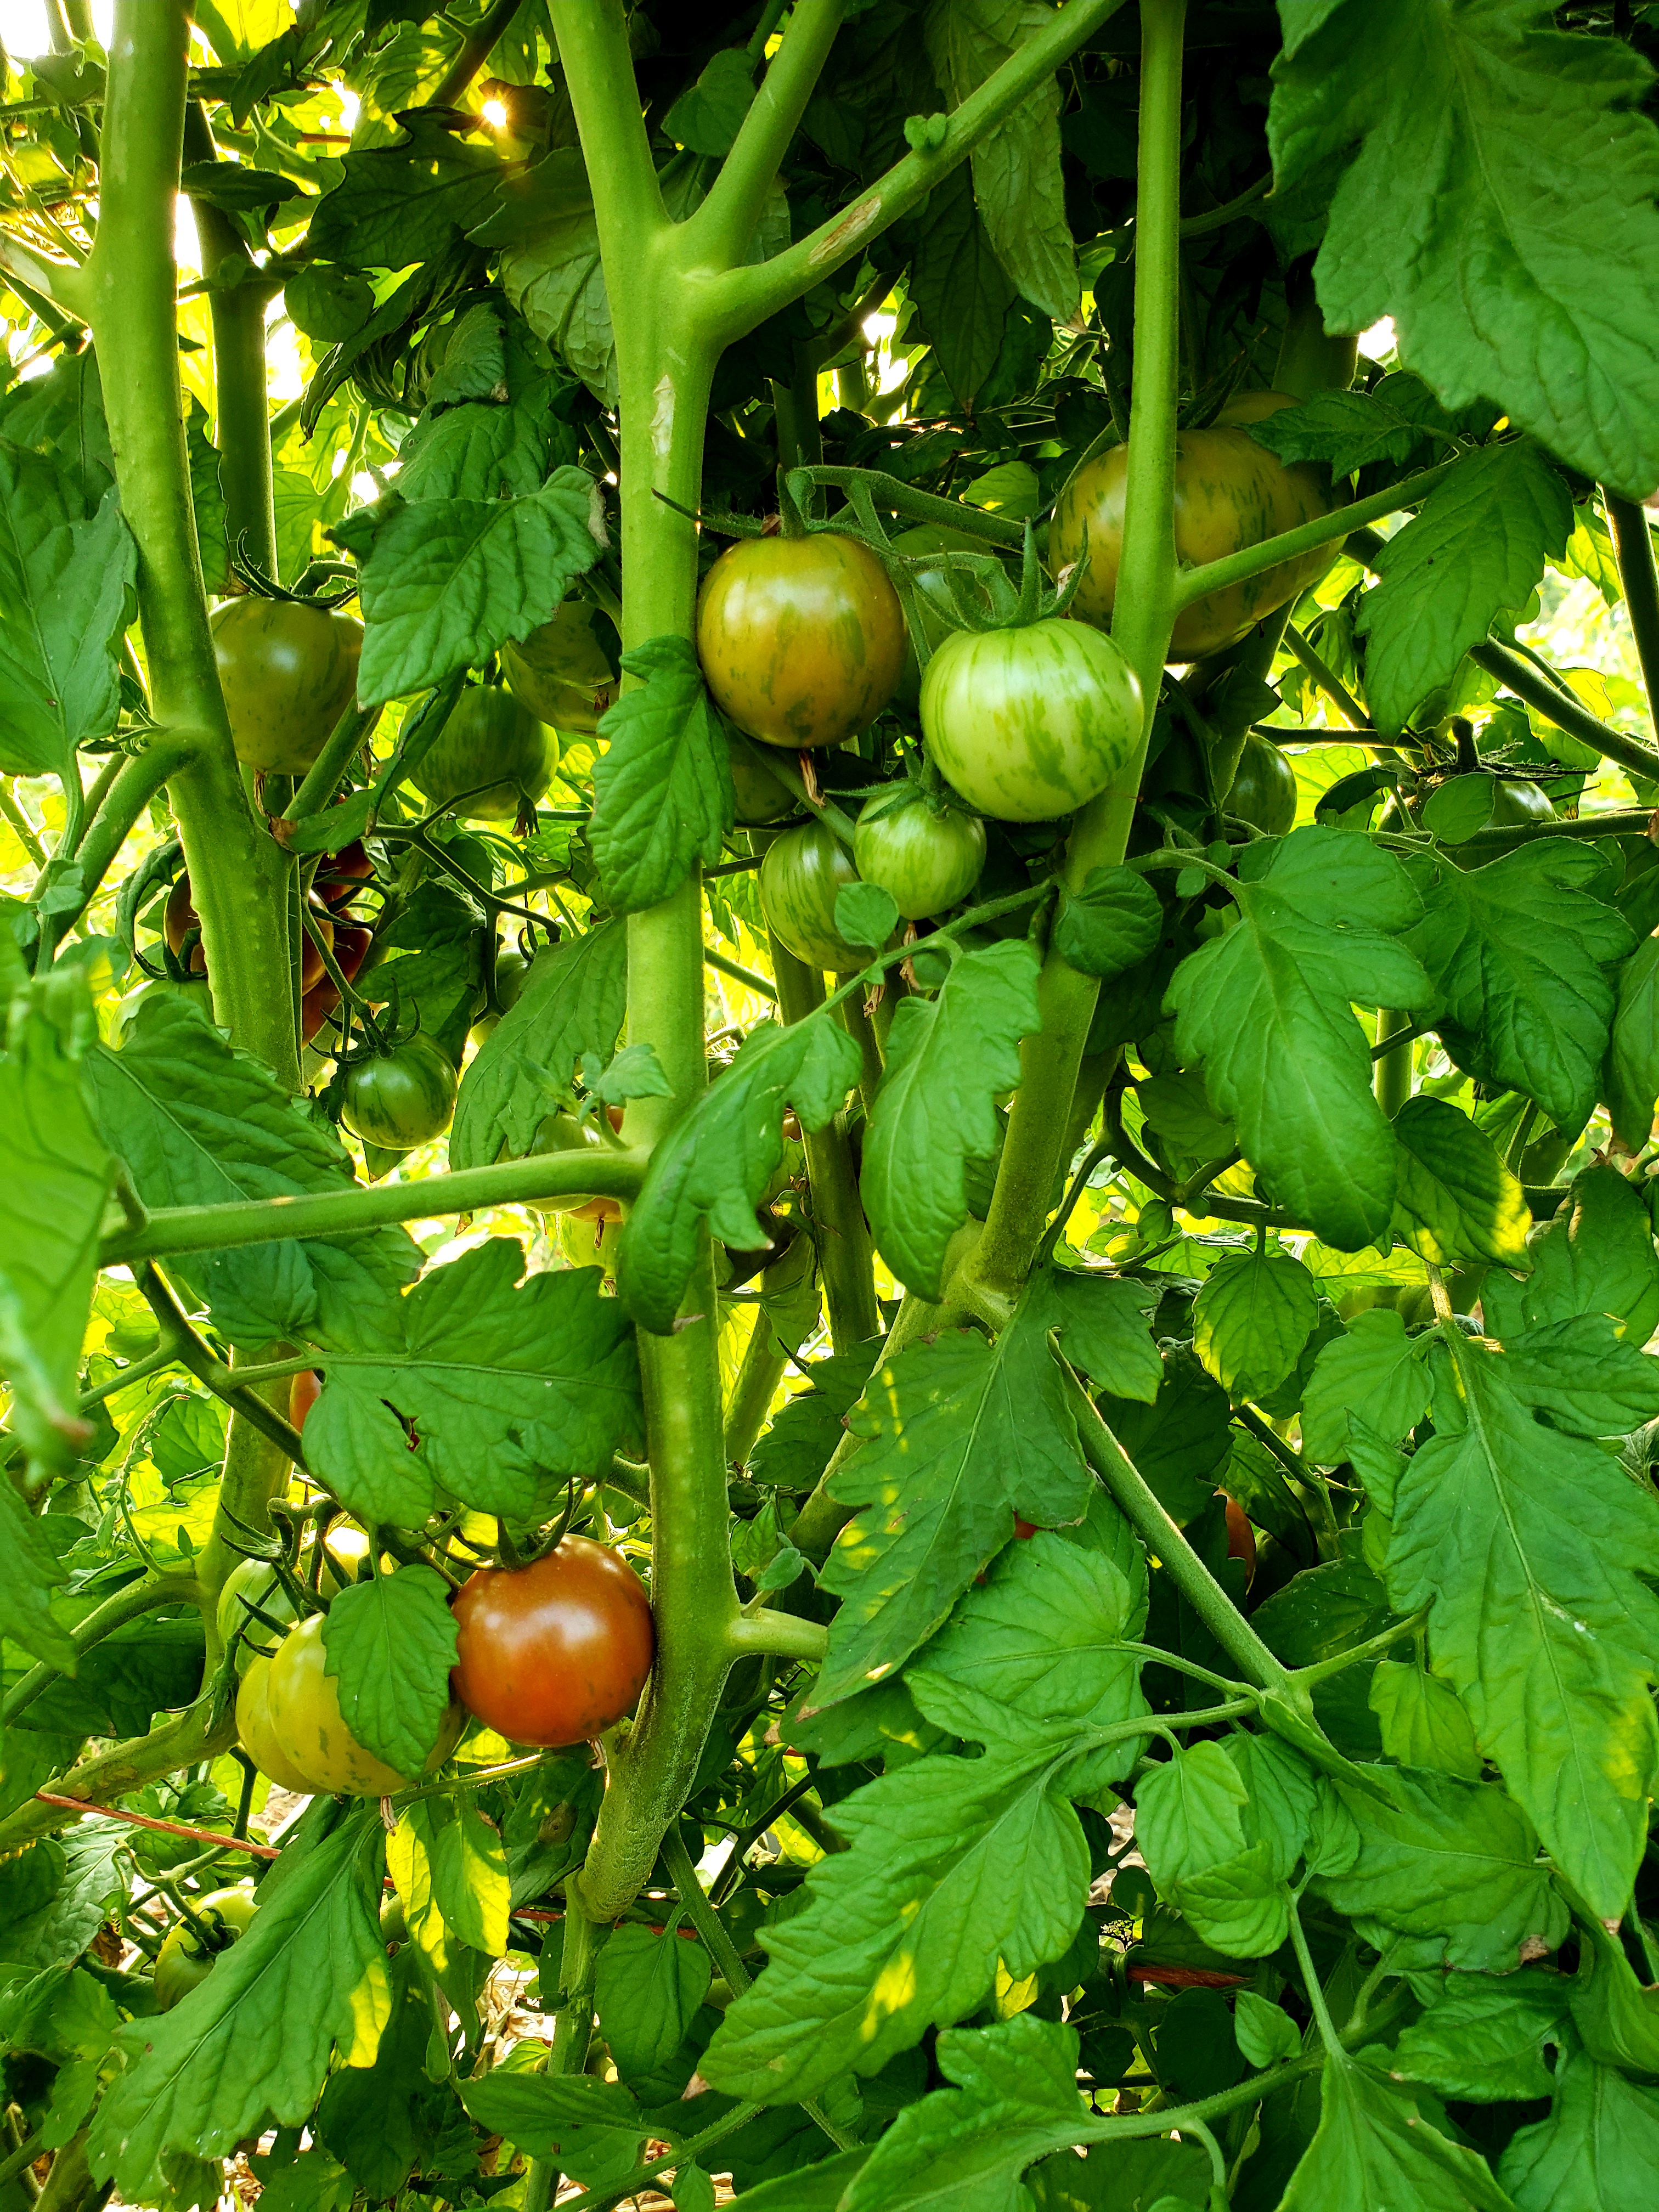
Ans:
[[[1124,0],[1066,0],[1053,20],[993,71],[978,91],[951,113],[945,142],[931,153],[911,153],[896,161],[885,177],[863,192],[849,208],[832,215],[805,239],[772,254],[757,268],[697,270],[692,294],[701,336],[717,349],[745,336],[770,314],[779,314],[801,299],[825,276],[832,276],[854,254],[863,254],[874,237],[909,215],[933,186],[947,177],[958,161],[967,159],[980,139],[1011,115],[1040,84],[1044,84],[1062,62],[1066,62],[1086,38],[1091,38]],[[575,13],[571,0],[555,7],[560,27],[560,49],[564,46],[562,24]],[[606,175],[593,168],[591,175]],[[690,226],[688,226],[690,228]]]

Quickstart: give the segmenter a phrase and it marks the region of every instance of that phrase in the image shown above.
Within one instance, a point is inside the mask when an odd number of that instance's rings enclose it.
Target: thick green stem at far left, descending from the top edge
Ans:
[[[212,1002],[232,1042],[299,1088],[285,865],[237,770],[201,588],[184,445],[173,212],[184,135],[184,0],[117,0],[97,243],[80,272],[97,343],[155,719],[184,743],[170,776]]]

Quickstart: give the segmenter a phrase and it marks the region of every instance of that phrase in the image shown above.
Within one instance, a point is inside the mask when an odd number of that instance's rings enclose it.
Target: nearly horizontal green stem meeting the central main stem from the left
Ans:
[[[296,1199],[241,1199],[230,1206],[173,1206],[142,1228],[117,1230],[100,1265],[119,1267],[168,1252],[226,1252],[230,1245],[272,1243],[283,1237],[361,1237],[387,1221],[425,1221],[471,1214],[482,1206],[529,1206],[573,1192],[597,1199],[639,1194],[646,1164],[633,1150],[593,1148],[502,1159],[493,1168],[458,1168],[416,1183],[349,1183]]]

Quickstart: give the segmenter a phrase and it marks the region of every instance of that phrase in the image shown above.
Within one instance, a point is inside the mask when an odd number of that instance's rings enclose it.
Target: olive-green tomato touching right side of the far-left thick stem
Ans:
[[[303,776],[356,695],[363,624],[292,599],[228,599],[212,617],[212,657],[237,759]]]

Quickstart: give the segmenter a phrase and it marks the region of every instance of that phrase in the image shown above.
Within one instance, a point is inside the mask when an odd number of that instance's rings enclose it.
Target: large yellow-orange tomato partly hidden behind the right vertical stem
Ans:
[[[1287,469],[1243,427],[1294,405],[1296,400],[1283,392],[1248,392],[1223,407],[1210,429],[1179,431],[1175,557],[1183,568],[1241,553],[1263,538],[1294,531],[1301,522],[1332,511],[1329,489],[1312,462],[1298,460]],[[1086,462],[1060,493],[1048,533],[1048,562],[1055,575],[1088,560],[1071,611],[1102,628],[1117,597],[1126,480],[1128,447],[1115,445]],[[1201,653],[1237,644],[1263,615],[1316,584],[1338,551],[1340,542],[1318,546],[1183,606],[1170,637],[1170,659],[1194,661]]]

